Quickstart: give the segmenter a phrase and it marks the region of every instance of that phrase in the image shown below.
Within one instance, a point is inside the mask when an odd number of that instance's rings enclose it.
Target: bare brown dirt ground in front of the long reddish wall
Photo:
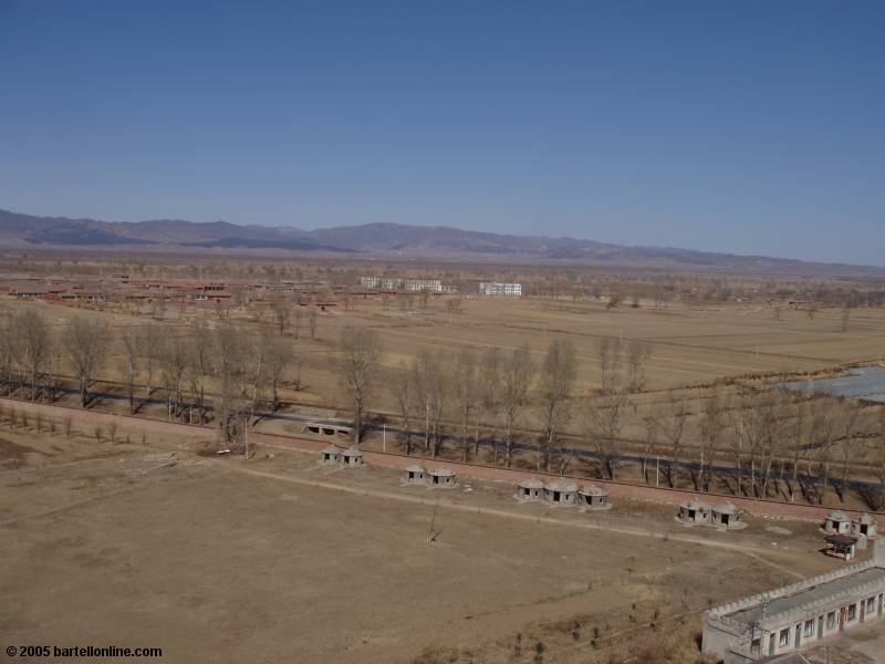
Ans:
[[[686,530],[645,502],[549,510],[499,483],[436,494],[312,455],[189,449],[0,432],[7,641],[155,646],[171,662],[476,664],[624,661],[657,644],[686,662],[708,605],[839,564],[809,523]]]

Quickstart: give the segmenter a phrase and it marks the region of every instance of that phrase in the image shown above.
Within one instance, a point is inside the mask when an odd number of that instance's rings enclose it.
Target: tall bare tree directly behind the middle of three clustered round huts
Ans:
[[[544,438],[541,444],[543,466],[550,471],[550,460],[560,432],[571,417],[570,398],[577,375],[577,359],[574,344],[568,340],[550,342],[539,376],[540,398],[544,423]],[[568,455],[563,455],[568,456]],[[540,470],[541,459],[539,458]]]

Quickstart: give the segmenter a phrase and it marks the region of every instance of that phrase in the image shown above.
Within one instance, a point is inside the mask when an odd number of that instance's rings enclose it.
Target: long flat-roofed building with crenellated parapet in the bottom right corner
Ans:
[[[725,664],[766,661],[885,618],[885,547],[861,563],[710,609],[702,650]]]

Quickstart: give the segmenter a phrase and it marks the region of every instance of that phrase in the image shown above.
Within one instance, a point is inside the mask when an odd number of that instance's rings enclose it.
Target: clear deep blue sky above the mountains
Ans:
[[[0,0],[0,207],[885,264],[885,2]]]

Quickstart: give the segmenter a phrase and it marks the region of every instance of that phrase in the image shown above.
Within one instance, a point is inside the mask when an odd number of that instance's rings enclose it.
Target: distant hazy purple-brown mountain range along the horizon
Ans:
[[[574,238],[479,232],[445,226],[365,224],[316,230],[238,226],[227,221],[181,219],[100,221],[37,217],[0,209],[0,246],[107,250],[261,250],[340,252],[414,258],[461,257],[520,261],[568,261],[612,267],[808,274],[862,274],[885,278],[885,268],[815,263],[761,256],[736,256],[662,247],[626,247]]]

